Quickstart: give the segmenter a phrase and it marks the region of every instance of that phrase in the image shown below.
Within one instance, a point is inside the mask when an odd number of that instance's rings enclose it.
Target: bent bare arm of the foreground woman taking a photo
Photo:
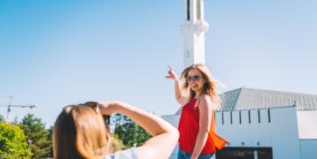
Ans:
[[[125,102],[98,103],[102,114],[124,114],[137,125],[143,127],[146,132],[151,133],[153,137],[147,140],[143,146],[136,148],[136,154],[140,159],[168,158],[172,154],[179,138],[179,133],[173,125],[170,125],[160,117],[135,108]]]

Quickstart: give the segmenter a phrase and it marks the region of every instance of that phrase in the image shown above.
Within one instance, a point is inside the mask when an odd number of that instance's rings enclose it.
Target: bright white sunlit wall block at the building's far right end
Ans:
[[[317,139],[317,110],[298,111],[298,136],[299,139]]]

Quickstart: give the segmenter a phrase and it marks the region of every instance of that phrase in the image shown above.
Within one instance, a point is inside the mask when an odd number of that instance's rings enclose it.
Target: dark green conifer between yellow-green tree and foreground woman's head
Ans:
[[[50,152],[51,142],[48,140],[49,133],[45,129],[41,118],[36,118],[33,114],[23,117],[19,126],[27,135],[27,141],[31,142],[32,158],[41,158]]]

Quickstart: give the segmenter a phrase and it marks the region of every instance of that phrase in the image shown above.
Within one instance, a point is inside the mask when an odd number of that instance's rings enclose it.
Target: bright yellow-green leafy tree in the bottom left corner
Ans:
[[[31,158],[27,137],[18,125],[0,122],[0,158]]]

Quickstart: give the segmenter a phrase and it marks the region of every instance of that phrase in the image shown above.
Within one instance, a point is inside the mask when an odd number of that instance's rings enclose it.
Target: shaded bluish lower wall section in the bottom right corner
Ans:
[[[299,140],[299,143],[301,159],[317,158],[317,140]]]

